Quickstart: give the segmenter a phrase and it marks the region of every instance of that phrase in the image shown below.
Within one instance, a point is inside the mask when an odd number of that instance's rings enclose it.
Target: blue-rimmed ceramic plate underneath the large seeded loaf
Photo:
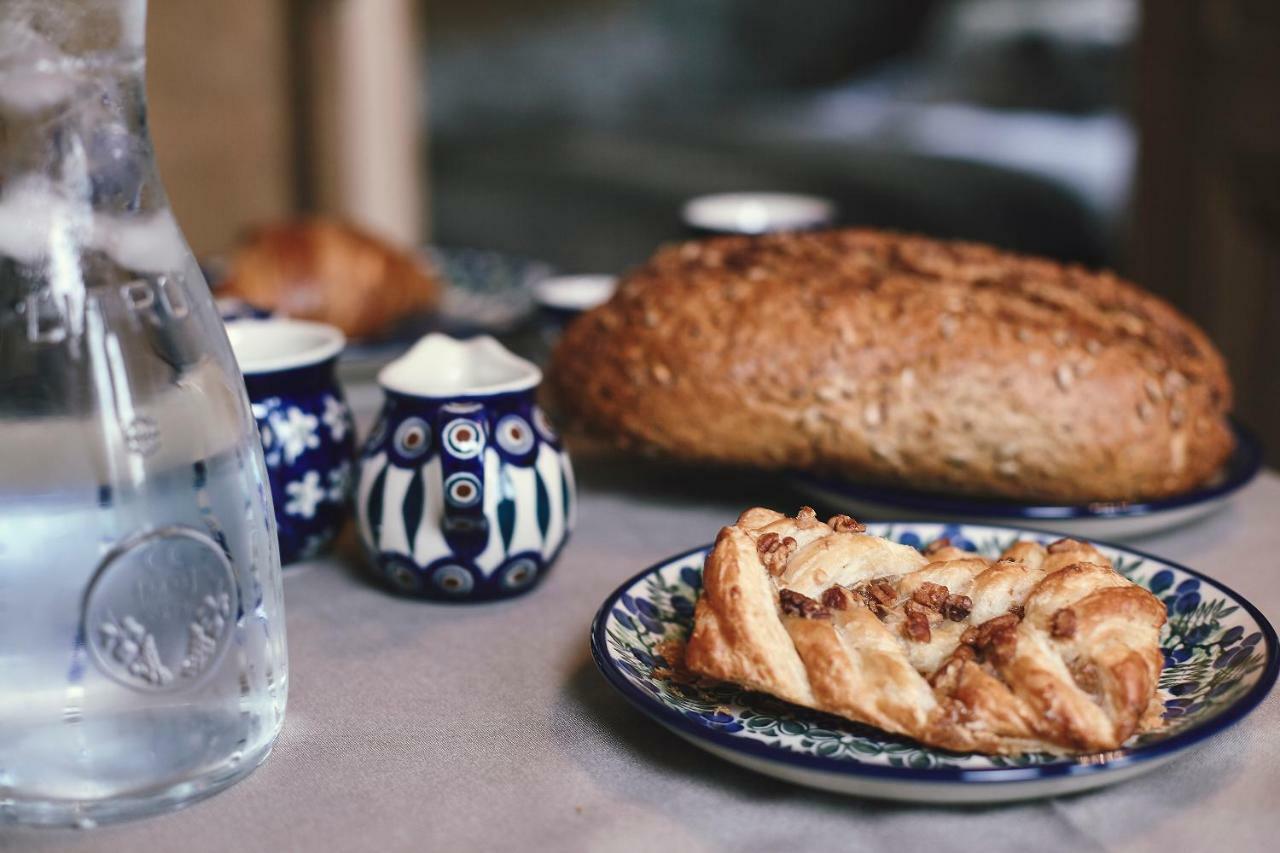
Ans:
[[[1233,421],[1235,451],[1204,485],[1160,501],[1140,503],[1044,505],[938,494],[890,485],[861,484],[817,474],[795,473],[792,484],[829,510],[858,519],[947,519],[991,524],[1051,525],[1062,535],[1135,539],[1183,526],[1222,508],[1228,500],[1262,470],[1262,444]]]

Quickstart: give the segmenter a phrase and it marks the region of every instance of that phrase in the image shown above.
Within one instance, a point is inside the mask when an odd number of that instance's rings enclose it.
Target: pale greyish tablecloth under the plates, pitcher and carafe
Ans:
[[[367,411],[365,412],[367,414]],[[1280,848],[1280,695],[1138,780],[989,808],[891,806],[797,788],[668,734],[605,685],[596,607],[712,539],[777,482],[689,478],[580,455],[577,532],[512,602],[396,598],[335,557],[287,570],[291,693],[270,761],[173,815],[88,831],[0,829],[14,850],[1230,850]],[[1280,619],[1280,476],[1139,547],[1221,578]]]

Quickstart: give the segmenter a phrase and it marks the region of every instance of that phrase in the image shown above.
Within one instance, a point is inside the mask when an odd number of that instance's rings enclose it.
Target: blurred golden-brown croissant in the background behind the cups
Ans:
[[[257,229],[237,250],[220,288],[260,309],[330,323],[349,338],[376,337],[434,310],[442,292],[425,261],[325,220]]]

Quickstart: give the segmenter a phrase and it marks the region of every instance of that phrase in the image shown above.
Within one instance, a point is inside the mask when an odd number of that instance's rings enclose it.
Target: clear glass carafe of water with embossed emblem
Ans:
[[[147,136],[146,0],[0,0],[0,824],[206,795],[284,719],[262,451]]]

